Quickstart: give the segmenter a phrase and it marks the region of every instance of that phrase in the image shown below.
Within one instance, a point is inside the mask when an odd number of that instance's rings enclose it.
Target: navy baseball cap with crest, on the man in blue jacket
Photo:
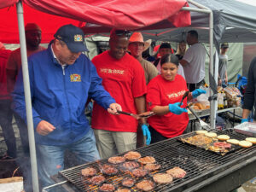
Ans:
[[[68,49],[74,53],[88,51],[84,44],[84,32],[72,24],[61,26],[54,37],[67,44]]]

